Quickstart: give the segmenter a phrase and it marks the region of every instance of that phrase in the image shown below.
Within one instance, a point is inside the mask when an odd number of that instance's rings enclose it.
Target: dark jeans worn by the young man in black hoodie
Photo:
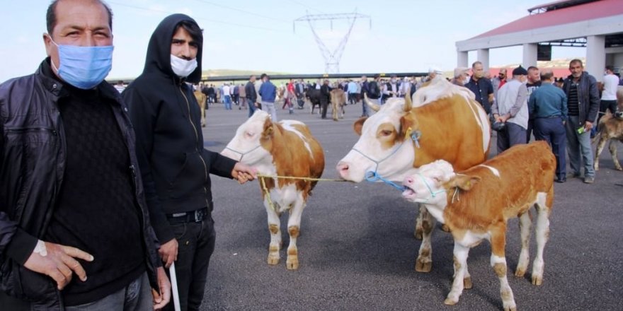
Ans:
[[[178,239],[178,260],[175,264],[181,310],[199,310],[205,292],[207,266],[215,247],[214,221],[208,215],[204,221],[175,223],[171,224],[171,228]],[[163,310],[175,310],[173,296],[171,303]]]

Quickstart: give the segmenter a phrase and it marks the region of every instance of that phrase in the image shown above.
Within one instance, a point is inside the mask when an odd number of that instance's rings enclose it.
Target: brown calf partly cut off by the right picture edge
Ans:
[[[615,115],[605,115],[599,120],[599,133],[595,136],[595,140],[598,140],[597,148],[595,149],[595,163],[593,164],[595,170],[599,170],[599,155],[603,151],[603,148],[608,143],[608,150],[612,155],[612,162],[615,163],[617,170],[623,170],[621,164],[619,164],[619,158],[617,158],[617,141],[623,143],[623,86],[619,86],[617,89],[617,113]]]

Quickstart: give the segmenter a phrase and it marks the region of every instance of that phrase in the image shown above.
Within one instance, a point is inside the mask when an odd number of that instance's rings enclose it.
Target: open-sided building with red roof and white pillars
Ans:
[[[565,0],[528,8],[528,16],[456,42],[457,66],[467,54],[489,68],[489,49],[522,45],[522,65],[549,60],[552,46],[586,47],[585,69],[600,80],[606,64],[623,69],[623,0]]]

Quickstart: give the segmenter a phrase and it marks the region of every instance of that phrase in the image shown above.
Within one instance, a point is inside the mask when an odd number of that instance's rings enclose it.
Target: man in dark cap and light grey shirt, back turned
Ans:
[[[491,112],[496,122],[505,123],[505,130],[498,131],[498,153],[525,143],[528,126],[527,70],[519,66],[513,70],[513,79],[498,90],[498,100],[493,102]]]

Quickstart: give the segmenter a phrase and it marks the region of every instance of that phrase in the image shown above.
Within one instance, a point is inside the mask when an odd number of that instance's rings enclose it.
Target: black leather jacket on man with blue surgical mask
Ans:
[[[32,310],[63,310],[52,278],[23,267],[50,223],[66,161],[66,141],[57,107],[62,83],[45,76],[44,66],[49,68],[48,59],[35,74],[0,85],[0,289],[32,302]],[[103,82],[97,88],[103,97],[116,103],[113,112],[130,155],[135,194],[142,211],[149,278],[156,287],[155,267],[161,263],[144,201],[127,107],[110,84]]]

